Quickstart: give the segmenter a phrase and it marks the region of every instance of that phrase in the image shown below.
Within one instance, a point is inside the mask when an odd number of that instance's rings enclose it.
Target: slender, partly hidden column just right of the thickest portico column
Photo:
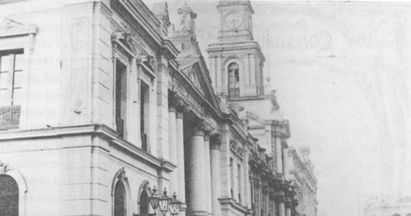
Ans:
[[[208,215],[212,215],[211,167],[210,167],[210,130],[204,134],[204,177],[206,178],[206,205]]]

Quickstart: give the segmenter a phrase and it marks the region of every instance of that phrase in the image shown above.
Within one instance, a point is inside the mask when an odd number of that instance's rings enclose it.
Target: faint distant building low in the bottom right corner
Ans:
[[[392,203],[386,203],[374,197],[366,204],[364,216],[411,216],[411,197],[403,197]]]

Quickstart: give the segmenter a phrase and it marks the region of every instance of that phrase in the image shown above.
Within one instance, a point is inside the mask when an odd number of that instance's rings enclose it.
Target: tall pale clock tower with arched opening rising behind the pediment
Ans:
[[[253,40],[250,1],[219,1],[217,8],[219,36],[207,50],[214,91],[232,101],[264,97],[265,58]]]

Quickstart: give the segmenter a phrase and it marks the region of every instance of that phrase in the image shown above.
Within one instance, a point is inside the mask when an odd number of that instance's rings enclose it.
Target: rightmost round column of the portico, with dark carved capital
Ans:
[[[214,134],[210,138],[210,159],[211,159],[211,202],[212,214],[221,216],[221,179],[220,179],[220,146],[221,136]]]

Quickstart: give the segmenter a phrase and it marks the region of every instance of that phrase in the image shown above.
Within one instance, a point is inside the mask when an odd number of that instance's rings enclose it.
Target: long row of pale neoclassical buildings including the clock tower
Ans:
[[[1,1],[0,215],[152,215],[154,188],[182,216],[293,215],[253,9],[218,8],[209,71],[188,6],[174,26],[166,3]]]

